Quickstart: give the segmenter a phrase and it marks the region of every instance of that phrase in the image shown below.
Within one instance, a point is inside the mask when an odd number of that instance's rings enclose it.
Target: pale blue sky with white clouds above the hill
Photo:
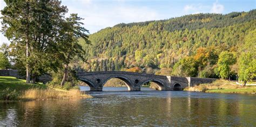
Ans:
[[[90,34],[119,23],[169,19],[194,13],[225,14],[256,8],[256,0],[62,0],[62,4],[69,9],[66,16],[78,13],[84,18],[84,27]],[[0,10],[4,6],[4,0],[0,0]],[[3,43],[9,41],[0,34],[0,45]]]

